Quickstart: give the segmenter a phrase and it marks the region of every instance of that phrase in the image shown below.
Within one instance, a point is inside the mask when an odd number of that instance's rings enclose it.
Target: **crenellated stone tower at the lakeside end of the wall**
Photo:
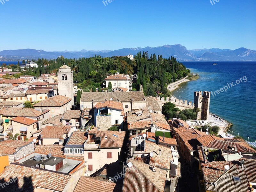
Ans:
[[[208,120],[209,109],[210,109],[210,92],[194,92],[194,106],[199,108],[201,111],[197,113],[197,119]]]

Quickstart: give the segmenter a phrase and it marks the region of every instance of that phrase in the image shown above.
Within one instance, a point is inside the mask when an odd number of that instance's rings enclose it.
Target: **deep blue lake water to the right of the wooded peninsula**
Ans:
[[[254,142],[256,140],[256,62],[182,63],[194,74],[198,73],[200,78],[180,84],[180,87],[172,92],[173,96],[193,103],[194,91],[212,92],[210,112],[231,122],[233,135],[239,133],[244,139],[248,140],[249,137],[249,141]],[[217,65],[212,65],[213,63]],[[217,90],[223,92],[216,92]]]

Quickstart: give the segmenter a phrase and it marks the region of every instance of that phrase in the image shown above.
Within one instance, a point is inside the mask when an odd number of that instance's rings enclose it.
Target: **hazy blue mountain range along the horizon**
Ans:
[[[44,51],[35,49],[18,49],[4,50],[0,52],[0,60],[22,60],[22,59],[56,59],[63,55],[65,58],[92,57],[100,55],[101,57],[136,55],[138,52],[148,52],[150,54],[162,55],[163,58],[171,56],[176,57],[179,61],[256,61],[256,51],[239,48],[236,50],[230,49],[193,49],[188,50],[181,44],[164,45],[160,47],[145,47],[145,48],[123,48],[118,50],[81,50],[81,51]]]

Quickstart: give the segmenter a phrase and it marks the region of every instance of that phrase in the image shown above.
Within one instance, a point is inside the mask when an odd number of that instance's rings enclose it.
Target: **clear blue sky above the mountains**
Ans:
[[[0,51],[164,44],[256,50],[255,8],[255,0],[0,0]]]

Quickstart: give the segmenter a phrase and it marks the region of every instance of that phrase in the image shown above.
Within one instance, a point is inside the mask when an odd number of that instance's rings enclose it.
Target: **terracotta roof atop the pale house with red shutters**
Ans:
[[[99,148],[122,148],[125,137],[124,131],[89,131],[89,134],[95,134],[96,137],[100,137]]]

